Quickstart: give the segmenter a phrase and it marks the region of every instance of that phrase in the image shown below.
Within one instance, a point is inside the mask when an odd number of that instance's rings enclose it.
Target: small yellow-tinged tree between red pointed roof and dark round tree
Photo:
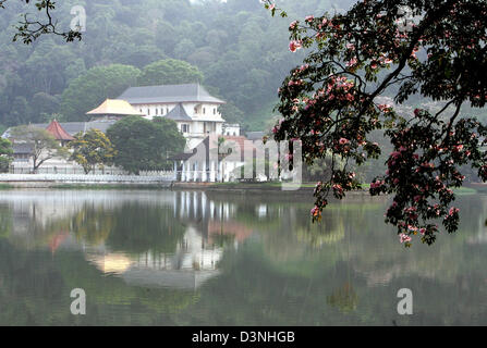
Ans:
[[[70,160],[83,166],[85,174],[88,174],[96,165],[104,167],[111,165],[117,154],[110,139],[98,129],[89,129],[86,133],[78,133],[74,140],[69,144],[73,150]]]

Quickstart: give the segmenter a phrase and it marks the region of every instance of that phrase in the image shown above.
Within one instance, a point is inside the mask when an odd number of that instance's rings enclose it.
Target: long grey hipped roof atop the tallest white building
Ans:
[[[223,100],[211,97],[199,84],[130,87],[119,99],[126,100],[131,104],[174,102],[224,103]]]

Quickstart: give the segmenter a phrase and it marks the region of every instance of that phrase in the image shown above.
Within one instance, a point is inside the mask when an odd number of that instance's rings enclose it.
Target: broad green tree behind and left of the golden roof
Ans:
[[[95,66],[73,79],[62,94],[61,113],[69,121],[86,120],[86,112],[107,98],[117,98],[136,84],[141,71],[131,65]]]

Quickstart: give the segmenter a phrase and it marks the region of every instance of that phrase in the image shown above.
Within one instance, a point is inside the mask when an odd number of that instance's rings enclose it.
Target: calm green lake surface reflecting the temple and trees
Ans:
[[[460,197],[460,231],[411,250],[386,204],[331,204],[313,225],[292,196],[2,191],[0,324],[486,325],[487,196]]]

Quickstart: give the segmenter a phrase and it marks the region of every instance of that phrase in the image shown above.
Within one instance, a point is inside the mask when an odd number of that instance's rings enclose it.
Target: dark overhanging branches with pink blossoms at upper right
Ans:
[[[267,1],[270,3],[269,1]],[[411,23],[407,5],[417,23]],[[370,192],[394,194],[386,221],[397,226],[401,243],[412,236],[433,244],[443,217],[448,232],[458,227],[459,211],[450,203],[451,187],[462,185],[459,166],[471,164],[487,178],[486,128],[461,117],[461,108],[483,108],[487,97],[485,1],[363,1],[346,13],[308,15],[292,22],[290,50],[309,48],[304,64],[291,71],[279,89],[283,119],[273,128],[277,140],[300,139],[308,163],[331,151],[332,175],[315,189],[314,220],[320,220],[329,194],[343,198],[360,187],[350,165],[381,153],[373,130],[386,128],[393,145],[388,171]],[[431,113],[417,108],[400,114],[377,99],[394,90],[398,104],[412,96],[443,102]]]

